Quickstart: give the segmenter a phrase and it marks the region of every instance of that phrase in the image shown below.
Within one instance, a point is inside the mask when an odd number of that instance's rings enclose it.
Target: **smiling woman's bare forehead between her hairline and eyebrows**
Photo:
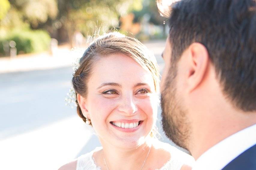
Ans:
[[[152,74],[143,69],[140,64],[127,56],[103,57],[95,65],[91,75],[94,84],[104,82],[116,82],[122,86],[130,86],[138,83],[154,84]]]

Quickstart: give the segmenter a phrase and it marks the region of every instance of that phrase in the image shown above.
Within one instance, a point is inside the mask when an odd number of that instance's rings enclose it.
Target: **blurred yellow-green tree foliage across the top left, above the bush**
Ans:
[[[9,0],[9,3],[0,0],[0,3],[5,3],[1,7],[10,8],[0,20],[0,33],[1,30],[10,32],[16,28],[46,29],[59,42],[71,42],[75,32],[81,32],[86,37],[96,31],[102,33],[118,27],[119,17],[132,10],[141,10],[142,1]],[[7,11],[0,9],[1,12]]]

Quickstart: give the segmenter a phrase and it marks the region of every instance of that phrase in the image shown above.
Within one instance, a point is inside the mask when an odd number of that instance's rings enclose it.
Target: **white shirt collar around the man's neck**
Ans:
[[[242,152],[256,144],[256,124],[245,128],[203,153],[192,170],[220,170]]]

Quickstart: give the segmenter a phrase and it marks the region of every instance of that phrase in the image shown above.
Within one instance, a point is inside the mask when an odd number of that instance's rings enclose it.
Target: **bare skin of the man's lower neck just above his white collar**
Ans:
[[[227,137],[256,124],[256,112],[228,112],[223,109],[222,112],[216,111],[212,115],[214,116],[211,119],[205,119],[193,127],[194,138],[191,139],[190,152],[195,160]]]

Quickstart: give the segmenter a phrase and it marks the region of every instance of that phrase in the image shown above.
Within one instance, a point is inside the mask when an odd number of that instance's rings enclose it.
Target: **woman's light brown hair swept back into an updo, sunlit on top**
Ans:
[[[95,63],[101,57],[110,54],[124,54],[131,57],[136,63],[140,64],[145,70],[152,74],[155,84],[155,91],[159,91],[159,71],[155,57],[140,41],[133,37],[126,37],[123,34],[113,32],[104,34],[95,39],[84,52],[79,61],[79,67],[73,74],[72,84],[75,90],[77,114],[86,122],[85,116],[77,102],[77,93],[86,98],[87,83]]]

